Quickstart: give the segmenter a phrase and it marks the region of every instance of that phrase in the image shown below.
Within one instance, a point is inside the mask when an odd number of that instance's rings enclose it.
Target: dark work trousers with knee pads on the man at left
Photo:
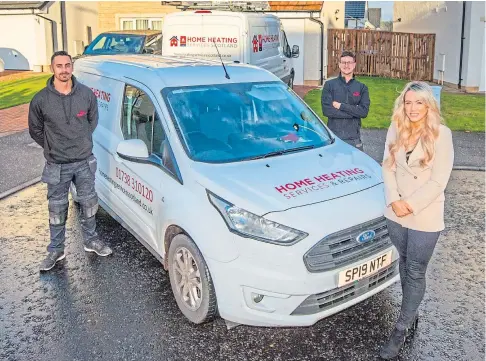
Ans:
[[[76,193],[81,206],[81,230],[84,242],[98,238],[95,214],[98,210],[98,195],[95,191],[96,158],[68,164],[46,162],[42,181],[47,183],[49,201],[49,229],[51,242],[49,252],[64,251],[66,239],[66,220],[69,206],[69,188],[71,182],[76,186]]]

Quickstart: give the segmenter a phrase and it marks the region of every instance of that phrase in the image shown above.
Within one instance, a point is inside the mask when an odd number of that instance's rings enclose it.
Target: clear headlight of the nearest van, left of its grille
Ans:
[[[221,214],[228,228],[242,237],[281,246],[291,246],[308,236],[305,232],[269,221],[238,208],[210,191],[207,193],[209,201]]]

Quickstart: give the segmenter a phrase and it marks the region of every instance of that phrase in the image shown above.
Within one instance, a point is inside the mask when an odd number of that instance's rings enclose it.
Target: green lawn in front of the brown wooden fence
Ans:
[[[387,78],[357,77],[368,86],[370,92],[370,112],[363,119],[364,128],[388,128],[393,112],[393,104],[407,81]],[[321,90],[310,91],[304,98],[314,111],[322,115]],[[484,132],[485,96],[483,94],[454,94],[442,91],[442,116],[452,130]]]

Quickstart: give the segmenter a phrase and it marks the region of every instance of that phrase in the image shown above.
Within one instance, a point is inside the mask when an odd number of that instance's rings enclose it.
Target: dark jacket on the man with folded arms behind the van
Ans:
[[[332,106],[332,102],[341,103],[341,109]],[[368,116],[370,96],[368,87],[355,80],[348,83],[339,77],[326,81],[322,89],[322,113],[328,118],[328,127],[343,140],[361,138],[361,118]]]

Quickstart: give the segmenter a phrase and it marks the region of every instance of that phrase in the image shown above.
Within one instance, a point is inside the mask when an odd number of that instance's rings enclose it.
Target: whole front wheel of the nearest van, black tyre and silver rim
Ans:
[[[169,247],[169,278],[179,309],[195,324],[212,321],[218,311],[213,280],[196,244],[178,234]]]

